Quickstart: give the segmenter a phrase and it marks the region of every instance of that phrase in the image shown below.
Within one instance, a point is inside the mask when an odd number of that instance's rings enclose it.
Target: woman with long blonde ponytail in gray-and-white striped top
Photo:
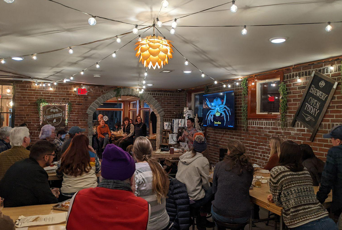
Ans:
[[[135,195],[151,206],[147,230],[168,229],[170,218],[166,212],[165,198],[169,191],[169,179],[161,165],[152,158],[151,142],[143,136],[133,145],[135,163]]]

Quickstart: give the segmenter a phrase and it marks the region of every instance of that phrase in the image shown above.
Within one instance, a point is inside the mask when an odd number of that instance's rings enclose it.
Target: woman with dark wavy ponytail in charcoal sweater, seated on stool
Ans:
[[[249,187],[253,180],[253,166],[240,141],[228,142],[228,155],[217,163],[213,176],[211,214],[225,223],[245,223],[251,215]]]

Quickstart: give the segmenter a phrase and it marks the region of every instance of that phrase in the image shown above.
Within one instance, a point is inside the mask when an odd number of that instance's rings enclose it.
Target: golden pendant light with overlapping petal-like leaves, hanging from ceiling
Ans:
[[[156,67],[162,68],[168,64],[168,59],[172,58],[173,46],[171,42],[160,36],[147,36],[134,44],[137,45],[134,49],[137,50],[135,56],[138,57],[140,55],[139,62],[141,61],[149,69],[151,67],[153,69],[156,69]]]

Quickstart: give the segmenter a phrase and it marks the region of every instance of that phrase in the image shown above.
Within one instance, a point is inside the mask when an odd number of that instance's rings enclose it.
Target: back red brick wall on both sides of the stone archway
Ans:
[[[87,133],[88,114],[86,112],[89,105],[101,95],[115,89],[113,87],[87,86],[88,95],[77,96],[74,88],[78,86],[73,84],[60,83],[57,86],[52,86],[53,91],[35,86],[32,82],[17,81],[15,82],[15,87],[15,126],[26,123],[32,135],[32,142],[38,140],[40,133],[37,99],[43,98],[49,103],[67,103],[70,101],[72,103],[72,110],[68,118],[68,127],[77,125],[81,128],[86,128]],[[149,93],[148,90],[146,92]],[[184,92],[154,90],[150,94],[163,107],[165,121],[169,121],[174,117],[176,111],[182,111],[180,108],[183,105],[180,105],[185,104]]]

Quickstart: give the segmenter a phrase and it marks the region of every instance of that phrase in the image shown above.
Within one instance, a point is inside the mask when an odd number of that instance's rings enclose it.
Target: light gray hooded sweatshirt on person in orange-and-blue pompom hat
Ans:
[[[209,161],[201,153],[196,153],[194,157],[192,154],[186,152],[179,157],[176,179],[185,184],[189,198],[197,201],[210,187]]]

